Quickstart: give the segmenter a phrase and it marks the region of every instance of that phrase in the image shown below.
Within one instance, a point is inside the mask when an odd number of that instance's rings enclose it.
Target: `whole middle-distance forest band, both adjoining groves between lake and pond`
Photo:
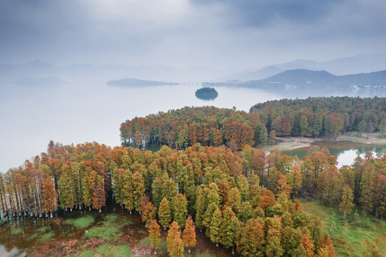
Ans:
[[[308,98],[256,104],[250,113],[215,107],[185,107],[121,124],[125,145],[168,145],[183,149],[225,144],[233,151],[273,144],[275,136],[335,139],[341,133],[379,131],[386,135],[386,99]]]

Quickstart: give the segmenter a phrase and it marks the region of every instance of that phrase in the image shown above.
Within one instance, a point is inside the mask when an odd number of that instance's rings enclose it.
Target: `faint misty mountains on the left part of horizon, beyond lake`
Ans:
[[[0,79],[14,81],[22,78],[57,76],[71,81],[72,78],[103,79],[141,78],[161,81],[213,80],[224,71],[205,66],[176,69],[172,66],[131,66],[117,64],[71,64],[57,66],[46,61],[35,60],[26,64],[0,64]]]

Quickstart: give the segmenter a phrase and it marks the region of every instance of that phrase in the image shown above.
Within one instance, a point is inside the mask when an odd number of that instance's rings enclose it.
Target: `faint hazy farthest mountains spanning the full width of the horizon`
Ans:
[[[16,81],[24,78],[58,77],[66,81],[86,79],[108,81],[117,78],[139,78],[151,81],[255,81],[280,74],[283,71],[306,69],[327,71],[337,76],[386,70],[386,54],[362,54],[330,61],[296,60],[283,64],[249,69],[237,74],[211,69],[206,66],[191,66],[176,69],[172,66],[131,66],[125,64],[71,64],[59,66],[35,60],[26,64],[0,64],[0,81]]]

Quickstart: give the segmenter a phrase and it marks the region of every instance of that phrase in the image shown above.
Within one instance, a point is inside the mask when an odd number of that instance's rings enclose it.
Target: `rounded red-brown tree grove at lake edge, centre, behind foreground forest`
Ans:
[[[261,146],[268,138],[258,114],[208,106],[136,117],[121,124],[120,130],[125,145],[150,143],[178,149],[200,143],[203,146],[225,144],[238,150],[245,145]]]

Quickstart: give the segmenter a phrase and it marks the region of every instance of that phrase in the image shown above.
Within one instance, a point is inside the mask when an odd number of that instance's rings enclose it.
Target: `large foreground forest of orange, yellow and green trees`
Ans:
[[[385,156],[336,164],[326,148],[298,160],[250,146],[233,152],[196,143],[152,153],[51,141],[47,153],[1,175],[1,207],[6,216],[52,216],[57,209],[101,210],[113,200],[141,213],[154,247],[158,223],[170,226],[171,256],[194,245],[195,226],[240,256],[335,256],[321,219],[293,200],[298,194],[313,193],[342,213],[355,203],[380,218],[386,212]]]

